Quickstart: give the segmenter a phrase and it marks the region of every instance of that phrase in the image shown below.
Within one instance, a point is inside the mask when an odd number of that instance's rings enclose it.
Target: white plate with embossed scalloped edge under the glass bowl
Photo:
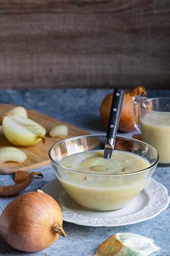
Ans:
[[[167,208],[167,189],[154,179],[124,208],[113,211],[90,211],[76,204],[66,194],[58,180],[46,183],[42,190],[51,195],[60,205],[63,220],[84,226],[123,226],[149,220]]]

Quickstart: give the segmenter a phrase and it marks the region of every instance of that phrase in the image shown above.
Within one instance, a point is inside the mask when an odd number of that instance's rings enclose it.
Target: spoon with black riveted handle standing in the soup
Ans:
[[[107,129],[104,158],[109,159],[114,150],[114,143],[116,139],[120,113],[124,99],[124,90],[116,88],[113,92],[113,99],[110,110],[109,125]]]

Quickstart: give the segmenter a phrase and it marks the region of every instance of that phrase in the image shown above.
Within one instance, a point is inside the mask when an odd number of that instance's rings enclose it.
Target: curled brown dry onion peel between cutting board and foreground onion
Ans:
[[[11,186],[0,186],[0,197],[11,197],[20,193],[23,189],[28,187],[30,183],[33,181],[33,177],[38,176],[43,178],[41,173],[36,172],[24,172],[22,170],[18,170],[15,174],[14,181],[15,184]]]

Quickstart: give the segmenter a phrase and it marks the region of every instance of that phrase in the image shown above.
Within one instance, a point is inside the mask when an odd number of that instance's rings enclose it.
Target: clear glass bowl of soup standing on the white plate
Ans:
[[[151,166],[134,173],[96,174],[84,173],[60,164],[66,156],[103,149],[105,138],[104,135],[69,138],[54,144],[49,151],[60,184],[76,203],[91,210],[116,210],[124,207],[147,184],[159,161],[159,155],[153,146],[128,137],[116,137],[115,150],[142,156]],[[84,180],[88,181],[86,185]]]

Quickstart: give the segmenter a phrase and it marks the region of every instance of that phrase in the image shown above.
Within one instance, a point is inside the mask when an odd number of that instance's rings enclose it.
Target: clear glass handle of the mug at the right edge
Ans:
[[[139,132],[140,130],[140,122],[141,122],[141,97],[136,96],[133,97],[133,115],[134,115],[134,126],[135,129]]]

